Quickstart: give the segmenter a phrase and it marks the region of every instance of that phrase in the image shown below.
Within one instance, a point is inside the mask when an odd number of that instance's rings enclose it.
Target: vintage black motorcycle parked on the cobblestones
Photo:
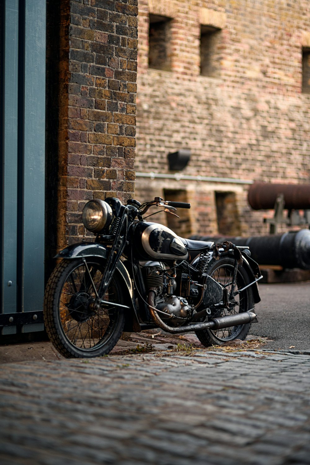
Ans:
[[[190,208],[160,197],[84,206],[83,223],[95,242],[59,252],[45,290],[46,331],[65,357],[101,356],[123,331],[156,327],[194,331],[203,345],[222,345],[245,339],[257,321],[262,276],[248,248],[178,237],[143,219],[151,206],[173,214]]]

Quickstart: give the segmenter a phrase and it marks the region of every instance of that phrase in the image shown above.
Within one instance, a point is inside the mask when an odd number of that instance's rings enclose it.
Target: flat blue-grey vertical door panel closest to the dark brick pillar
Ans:
[[[23,310],[43,308],[46,0],[25,0]]]

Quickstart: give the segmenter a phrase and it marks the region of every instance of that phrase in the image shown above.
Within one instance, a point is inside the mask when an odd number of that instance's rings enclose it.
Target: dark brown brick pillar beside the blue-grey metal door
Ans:
[[[51,251],[84,237],[86,201],[133,195],[137,13],[136,0],[48,2]]]

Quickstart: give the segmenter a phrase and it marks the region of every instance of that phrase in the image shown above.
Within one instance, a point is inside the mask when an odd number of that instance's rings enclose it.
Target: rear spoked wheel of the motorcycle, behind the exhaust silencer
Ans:
[[[229,257],[223,257],[219,260],[214,260],[207,271],[215,281],[226,287],[228,290],[228,296],[231,295],[232,283],[233,283],[233,269],[234,259]],[[250,283],[249,277],[242,266],[238,266],[237,280],[234,291],[243,289],[247,284]],[[213,312],[213,317],[220,317],[225,315],[234,315],[240,312],[247,312],[254,307],[254,298],[251,287],[248,287],[244,291],[236,294],[232,299],[229,299],[229,308],[219,309],[217,312]],[[221,328],[217,330],[205,329],[196,331],[196,335],[200,342],[209,347],[211,345],[223,345],[225,342],[233,341],[234,339],[245,339],[251,323],[245,325],[233,326],[230,328]]]

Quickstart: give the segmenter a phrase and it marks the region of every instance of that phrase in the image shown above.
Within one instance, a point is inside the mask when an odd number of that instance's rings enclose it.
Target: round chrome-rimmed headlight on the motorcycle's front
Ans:
[[[83,224],[92,233],[100,233],[104,226],[110,226],[112,219],[112,208],[103,200],[90,200],[83,208]]]

